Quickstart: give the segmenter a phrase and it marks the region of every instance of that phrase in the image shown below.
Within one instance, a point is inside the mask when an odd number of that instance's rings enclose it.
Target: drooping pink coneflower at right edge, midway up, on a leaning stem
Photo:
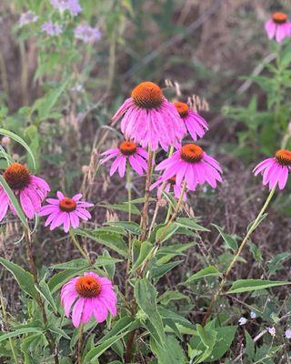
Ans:
[[[262,174],[264,186],[268,184],[269,188],[272,189],[278,185],[280,189],[283,189],[286,186],[290,170],[291,151],[279,149],[276,151],[275,157],[263,160],[253,172],[255,176],[259,173]]]

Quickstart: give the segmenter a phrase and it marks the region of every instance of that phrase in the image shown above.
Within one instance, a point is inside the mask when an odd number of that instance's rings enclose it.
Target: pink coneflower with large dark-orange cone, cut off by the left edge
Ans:
[[[8,186],[13,190],[15,196],[19,197],[19,202],[26,217],[34,218],[41,209],[47,192],[50,190],[45,179],[30,174],[30,171],[19,163],[13,163],[7,167],[3,177]],[[15,214],[5,189],[0,186],[0,221],[5,217],[8,207]]]

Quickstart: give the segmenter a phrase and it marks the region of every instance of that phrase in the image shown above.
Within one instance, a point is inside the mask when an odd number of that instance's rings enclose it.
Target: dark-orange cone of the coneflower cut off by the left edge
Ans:
[[[20,163],[13,163],[4,171],[3,177],[10,188],[14,190],[24,189],[29,185],[30,172]]]

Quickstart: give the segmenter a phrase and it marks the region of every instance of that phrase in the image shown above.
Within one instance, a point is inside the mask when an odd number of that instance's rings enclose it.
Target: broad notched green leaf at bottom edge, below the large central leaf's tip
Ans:
[[[159,364],[185,364],[186,357],[178,340],[173,335],[166,335],[165,349],[156,346],[155,339],[150,340],[150,347]]]

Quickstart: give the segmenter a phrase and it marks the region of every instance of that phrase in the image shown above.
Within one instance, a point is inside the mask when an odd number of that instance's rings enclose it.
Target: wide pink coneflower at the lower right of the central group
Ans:
[[[195,190],[197,185],[208,183],[215,188],[217,182],[222,181],[222,173],[219,163],[213,157],[194,143],[186,144],[177,150],[171,157],[166,158],[156,170],[165,169],[161,180],[176,176],[176,185],[181,186],[186,182],[186,188]]]

